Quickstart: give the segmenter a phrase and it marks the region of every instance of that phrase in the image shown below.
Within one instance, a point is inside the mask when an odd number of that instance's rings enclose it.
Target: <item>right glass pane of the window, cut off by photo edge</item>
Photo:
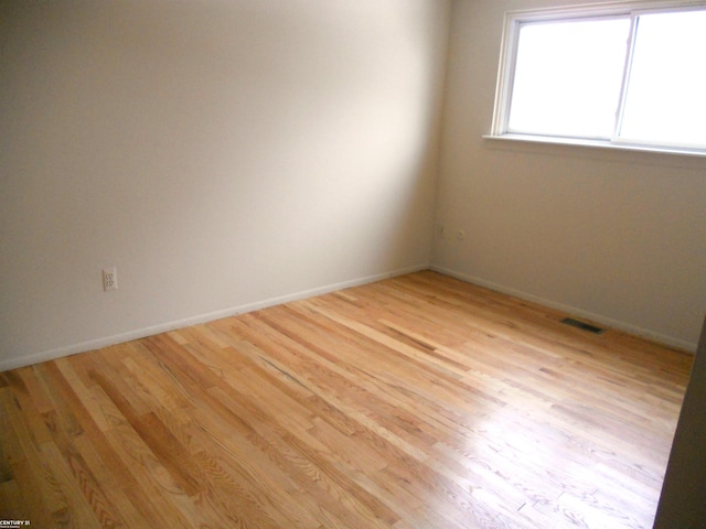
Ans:
[[[620,137],[706,147],[706,11],[638,19]]]

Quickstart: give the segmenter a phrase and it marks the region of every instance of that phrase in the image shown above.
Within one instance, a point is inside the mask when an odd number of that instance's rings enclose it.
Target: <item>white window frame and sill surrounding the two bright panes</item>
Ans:
[[[542,143],[558,143],[573,145],[606,147],[613,149],[628,149],[639,151],[656,151],[670,153],[683,153],[706,156],[706,147],[687,147],[681,144],[664,144],[652,142],[634,142],[630,139],[620,138],[623,120],[623,109],[627,98],[627,77],[630,74],[631,62],[635,44],[635,19],[643,14],[659,12],[676,12],[688,10],[704,10],[704,0],[654,0],[640,1],[628,0],[609,3],[591,3],[582,6],[570,6],[561,8],[532,9],[522,11],[510,11],[505,13],[503,23],[503,36],[500,50],[500,63],[498,80],[495,86],[495,101],[493,109],[493,120],[491,133],[485,134],[486,139],[506,139],[514,141],[530,141]],[[510,110],[512,105],[512,90],[517,60],[520,29],[524,24],[553,22],[553,21],[579,21],[598,20],[607,18],[629,18],[631,19],[628,52],[625,53],[625,64],[623,67],[623,80],[619,94],[618,116],[614,122],[613,133],[610,139],[592,139],[570,136],[543,136],[524,132],[512,132],[509,130]]]

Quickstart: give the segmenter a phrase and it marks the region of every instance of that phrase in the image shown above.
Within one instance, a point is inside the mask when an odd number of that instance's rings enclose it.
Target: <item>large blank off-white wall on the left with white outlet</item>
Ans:
[[[427,267],[448,8],[2,2],[0,369]]]

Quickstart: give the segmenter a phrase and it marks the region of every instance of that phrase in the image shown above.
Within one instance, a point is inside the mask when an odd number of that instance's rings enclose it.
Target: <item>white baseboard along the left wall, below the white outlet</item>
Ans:
[[[270,298],[270,299],[257,301],[254,303],[246,303],[243,305],[237,305],[237,306],[224,309],[221,311],[210,312],[206,314],[199,314],[195,316],[185,317],[183,320],[164,322],[158,325],[151,325],[149,327],[142,327],[135,331],[128,331],[126,333],[90,339],[90,341],[82,342],[78,344],[67,345],[65,347],[57,347],[54,349],[43,350],[40,353],[34,353],[34,354],[30,354],[21,357],[6,358],[0,360],[0,371],[6,371],[8,369],[15,369],[18,367],[30,366],[32,364],[39,364],[40,361],[54,360],[56,358],[62,358],[62,357],[75,355],[78,353],[85,353],[87,350],[99,349],[101,347],[121,344],[125,342],[130,342],[132,339],[143,338],[146,336],[152,336],[154,334],[167,333],[169,331],[174,331],[175,328],[183,328],[190,325],[197,325],[200,323],[211,322],[214,320],[220,320],[222,317],[228,317],[236,314],[253,312],[259,309],[266,309],[268,306],[280,305],[282,303],[287,303],[290,301],[303,300],[306,298],[311,298],[314,295],[328,294],[330,292],[335,292],[336,290],[343,290],[351,287],[360,287],[362,284],[372,283],[383,279],[394,278],[397,276],[404,276],[406,273],[413,273],[413,272],[418,272],[420,270],[428,270],[428,269],[429,269],[428,263],[417,264],[414,267],[402,268],[402,269],[393,270],[389,272],[383,272],[383,273],[366,276],[363,278],[357,278],[349,281],[342,281],[340,283],[327,284],[324,287],[318,287],[315,289],[293,292],[291,294]]]

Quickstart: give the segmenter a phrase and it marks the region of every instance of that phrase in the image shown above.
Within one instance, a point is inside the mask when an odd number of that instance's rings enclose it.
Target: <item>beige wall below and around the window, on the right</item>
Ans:
[[[693,349],[706,311],[706,158],[481,139],[504,12],[561,3],[580,2],[452,4],[435,268]]]

